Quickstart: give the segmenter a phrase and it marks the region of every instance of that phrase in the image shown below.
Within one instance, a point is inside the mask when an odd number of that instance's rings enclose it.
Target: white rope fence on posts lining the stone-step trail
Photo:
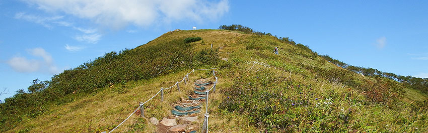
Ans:
[[[117,127],[119,127],[121,124],[123,124],[123,122],[125,122],[126,120],[128,120],[129,119],[129,117],[131,117],[132,116],[132,114],[134,114],[138,109],[140,109],[140,111],[141,111],[141,116],[142,117],[144,117],[144,104],[146,104],[147,102],[149,102],[150,100],[152,100],[155,96],[157,96],[159,93],[161,93],[161,101],[163,101],[164,100],[164,90],[166,90],[166,89],[170,89],[170,88],[172,88],[172,87],[174,87],[174,86],[176,86],[177,85],[177,90],[178,91],[180,91],[180,87],[179,87],[179,83],[181,83],[181,82],[183,82],[184,81],[184,84],[187,84],[186,83],[186,80],[187,80],[187,82],[189,81],[189,74],[191,74],[192,72],[194,72],[194,71],[203,71],[203,70],[212,70],[212,73],[213,73],[213,76],[216,78],[216,82],[214,82],[214,85],[211,87],[211,89],[212,88],[214,88],[214,90],[213,91],[216,91],[216,84],[217,84],[217,77],[216,77],[216,74],[215,74],[215,71],[213,70],[213,69],[218,69],[218,68],[208,68],[208,69],[197,69],[197,70],[195,70],[195,69],[193,69],[192,71],[190,71],[189,73],[187,73],[186,74],[186,76],[184,76],[183,77],[183,79],[181,80],[181,81],[179,81],[179,82],[176,82],[174,85],[172,85],[171,87],[168,87],[168,88],[161,88],[161,90],[159,90],[158,91],[158,93],[156,93],[154,96],[152,96],[152,98],[150,98],[149,100],[147,100],[146,102],[144,102],[144,103],[141,103],[140,102],[140,104],[139,104],[139,106],[135,109],[135,111],[133,111],[125,120],[123,120],[122,122],[120,122],[120,124],[119,125],[117,125],[116,127],[114,127],[112,130],[110,130],[109,131],[109,133],[110,132],[112,132],[113,130],[115,130]],[[208,92],[211,90],[211,89],[209,89],[209,90],[207,90],[207,91],[205,91],[206,92],[206,106],[208,106]],[[206,109],[206,112],[205,112],[205,118],[206,118],[206,129],[207,129],[207,127],[208,127],[208,117],[206,116],[207,115],[207,113],[208,113],[208,109]],[[204,125],[205,125],[205,123],[204,123]],[[208,132],[208,131],[206,131],[206,132]]]

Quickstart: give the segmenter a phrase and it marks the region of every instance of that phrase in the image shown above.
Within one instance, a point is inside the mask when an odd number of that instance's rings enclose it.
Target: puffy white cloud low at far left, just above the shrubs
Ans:
[[[30,55],[33,57],[41,57],[43,60],[27,59],[25,57],[12,57],[7,61],[7,64],[17,72],[31,73],[43,72],[49,74],[58,74],[60,71],[53,64],[52,56],[42,48],[28,49]]]

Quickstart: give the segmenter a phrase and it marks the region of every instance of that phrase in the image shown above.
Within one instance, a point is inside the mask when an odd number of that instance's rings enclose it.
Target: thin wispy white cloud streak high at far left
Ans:
[[[26,13],[17,13],[15,14],[15,19],[22,19],[26,21],[30,21],[36,24],[40,24],[47,28],[52,28],[52,22],[56,20],[62,19],[63,16],[53,16],[53,17],[42,17],[35,15],[27,15]]]

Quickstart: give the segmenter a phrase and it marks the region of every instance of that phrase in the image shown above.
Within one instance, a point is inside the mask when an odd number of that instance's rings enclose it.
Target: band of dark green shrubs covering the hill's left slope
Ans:
[[[173,47],[172,47],[173,46]],[[184,68],[217,65],[218,50],[192,51],[182,40],[106,53],[77,68],[64,70],[50,81],[33,81],[30,93],[20,90],[0,104],[0,131],[13,128],[22,120],[34,118],[47,111],[50,104],[63,104],[115,85],[113,92],[126,93],[127,81],[150,79]],[[193,59],[196,59],[195,61]]]

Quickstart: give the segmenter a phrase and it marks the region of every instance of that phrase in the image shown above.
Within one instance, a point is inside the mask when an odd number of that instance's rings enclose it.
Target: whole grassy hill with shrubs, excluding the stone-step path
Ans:
[[[184,42],[188,37],[202,40]],[[168,32],[34,82],[29,92],[0,105],[1,131],[108,131],[159,88],[192,69],[212,67],[220,69],[208,106],[210,132],[428,131],[428,100],[420,90],[349,71],[288,38],[229,30]],[[189,80],[210,74],[197,72]],[[115,131],[156,131],[148,118],[170,115],[172,104],[192,85],[181,88],[166,91],[163,102],[150,101],[146,118],[134,114]]]

